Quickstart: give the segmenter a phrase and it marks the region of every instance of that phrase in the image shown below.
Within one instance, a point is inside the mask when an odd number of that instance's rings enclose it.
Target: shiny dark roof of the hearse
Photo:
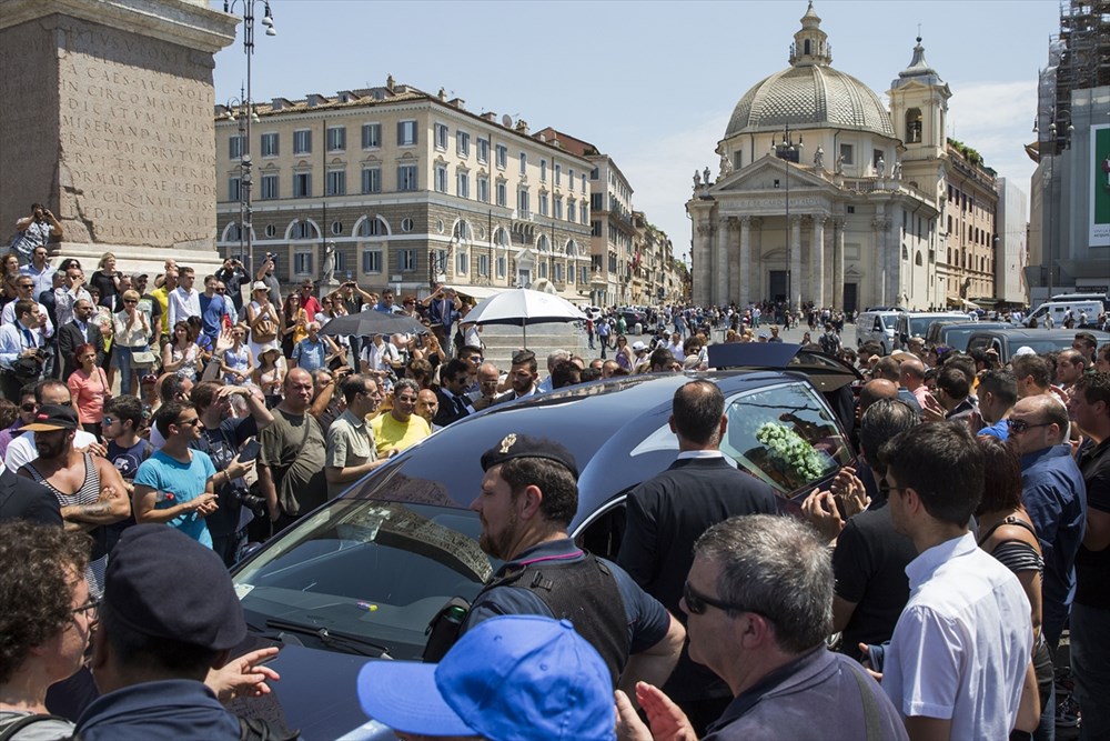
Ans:
[[[344,497],[468,507],[478,493],[476,487],[471,492],[448,493],[437,482],[480,481],[483,452],[509,434],[528,434],[556,440],[574,454],[582,499],[573,529],[606,500],[674,462],[674,447],[642,443],[666,427],[675,391],[694,379],[713,381],[726,398],[784,382],[808,383],[804,374],[795,372],[710,371],[628,375],[561,389],[498,404],[448,424],[371,473]],[[544,413],[534,413],[538,408]],[[637,447],[636,465],[627,465]]]

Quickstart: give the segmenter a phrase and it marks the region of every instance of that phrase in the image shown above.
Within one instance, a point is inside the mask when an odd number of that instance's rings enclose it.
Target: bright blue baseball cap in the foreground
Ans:
[[[613,680],[567,620],[491,618],[438,664],[373,661],[359,672],[366,714],[405,733],[498,741],[615,739]]]

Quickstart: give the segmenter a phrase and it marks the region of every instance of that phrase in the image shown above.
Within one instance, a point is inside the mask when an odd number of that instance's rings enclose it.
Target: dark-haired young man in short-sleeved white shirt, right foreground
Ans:
[[[982,452],[967,425],[936,422],[899,433],[879,459],[895,529],[918,552],[906,567],[910,597],[885,652],[882,689],[912,740],[1006,739],[1032,672],[1033,629],[1017,577],[968,531]]]

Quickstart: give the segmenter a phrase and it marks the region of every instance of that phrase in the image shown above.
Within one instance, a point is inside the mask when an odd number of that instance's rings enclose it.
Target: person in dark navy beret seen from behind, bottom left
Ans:
[[[253,667],[273,649],[225,667],[246,637],[239,598],[220,557],[172,528],[139,524],[123,533],[99,612],[91,665],[102,694],[78,720],[84,741],[239,739],[214,670],[238,675],[240,691],[276,679]]]

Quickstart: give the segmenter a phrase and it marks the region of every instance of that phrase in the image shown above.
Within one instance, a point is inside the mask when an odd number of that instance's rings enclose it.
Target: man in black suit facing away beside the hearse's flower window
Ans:
[[[685,614],[678,601],[694,563],[694,541],[703,532],[731,517],[778,512],[770,487],[725,460],[719,448],[727,427],[725,397],[716,384],[690,381],[680,387],[670,415],[678,458],[628,494],[617,564],[672,614]],[[733,699],[728,685],[694,663],[687,650],[664,691],[686,711],[698,733]]]

